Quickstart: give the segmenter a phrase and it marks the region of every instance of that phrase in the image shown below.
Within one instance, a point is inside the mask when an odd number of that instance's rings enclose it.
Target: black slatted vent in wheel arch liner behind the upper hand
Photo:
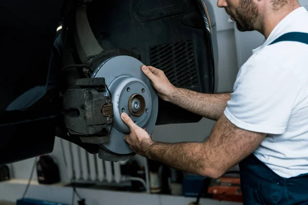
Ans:
[[[150,47],[151,66],[163,70],[177,87],[197,87],[195,56],[191,41]]]

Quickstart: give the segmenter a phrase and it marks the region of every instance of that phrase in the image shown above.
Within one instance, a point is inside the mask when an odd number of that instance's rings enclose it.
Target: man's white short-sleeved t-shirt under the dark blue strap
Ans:
[[[267,134],[254,154],[285,178],[308,173],[308,45],[269,45],[288,32],[308,33],[304,7],[288,14],[253,50],[224,111],[237,127]]]

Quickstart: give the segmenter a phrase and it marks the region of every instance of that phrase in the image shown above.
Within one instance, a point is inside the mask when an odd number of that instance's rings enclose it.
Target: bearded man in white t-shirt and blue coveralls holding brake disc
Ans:
[[[162,99],[217,120],[209,138],[155,142],[123,113],[131,131],[124,140],[138,154],[203,176],[220,177],[239,163],[245,204],[307,204],[308,12],[296,0],[219,0],[218,6],[240,31],[266,38],[240,69],[233,93],[176,88],[161,70],[142,67]]]

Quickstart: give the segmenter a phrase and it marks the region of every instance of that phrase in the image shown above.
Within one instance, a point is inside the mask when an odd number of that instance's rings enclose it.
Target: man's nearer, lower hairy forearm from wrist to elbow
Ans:
[[[215,160],[210,160],[214,156],[211,156],[210,150],[206,151],[204,146],[203,143],[198,142],[177,144],[154,142],[148,157],[184,172],[215,178],[219,173]]]

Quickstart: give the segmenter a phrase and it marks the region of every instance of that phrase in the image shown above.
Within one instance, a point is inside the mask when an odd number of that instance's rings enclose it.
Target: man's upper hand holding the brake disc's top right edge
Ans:
[[[153,87],[157,90],[158,95],[165,101],[170,101],[172,93],[176,87],[170,83],[162,70],[152,66],[142,66],[143,73],[152,81]]]

